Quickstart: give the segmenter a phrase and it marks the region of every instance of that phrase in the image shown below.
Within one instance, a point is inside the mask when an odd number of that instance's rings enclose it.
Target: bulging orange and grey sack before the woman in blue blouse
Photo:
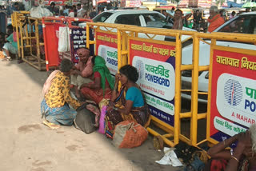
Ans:
[[[113,143],[118,148],[134,148],[142,145],[147,130],[135,121],[122,121],[114,128]]]

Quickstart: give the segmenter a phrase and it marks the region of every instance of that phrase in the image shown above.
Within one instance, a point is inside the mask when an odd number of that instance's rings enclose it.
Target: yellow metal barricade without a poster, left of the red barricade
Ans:
[[[17,33],[18,57],[38,70],[46,70],[43,52],[42,19],[26,16],[29,12],[14,12],[12,22]]]

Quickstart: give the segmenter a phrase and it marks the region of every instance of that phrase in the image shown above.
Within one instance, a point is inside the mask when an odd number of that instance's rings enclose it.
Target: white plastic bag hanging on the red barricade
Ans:
[[[70,51],[70,35],[69,28],[66,26],[60,26],[58,30],[58,51],[66,52]]]

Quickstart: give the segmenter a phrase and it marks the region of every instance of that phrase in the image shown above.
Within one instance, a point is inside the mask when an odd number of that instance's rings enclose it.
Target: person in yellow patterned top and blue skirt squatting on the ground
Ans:
[[[77,109],[82,102],[75,100],[70,96],[70,71],[73,63],[68,59],[63,59],[60,64],[60,70],[55,70],[47,78],[42,93],[44,99],[41,104],[42,117],[46,120],[44,124],[50,128],[58,128],[59,125],[72,125]],[[69,105],[74,109],[70,109]]]

